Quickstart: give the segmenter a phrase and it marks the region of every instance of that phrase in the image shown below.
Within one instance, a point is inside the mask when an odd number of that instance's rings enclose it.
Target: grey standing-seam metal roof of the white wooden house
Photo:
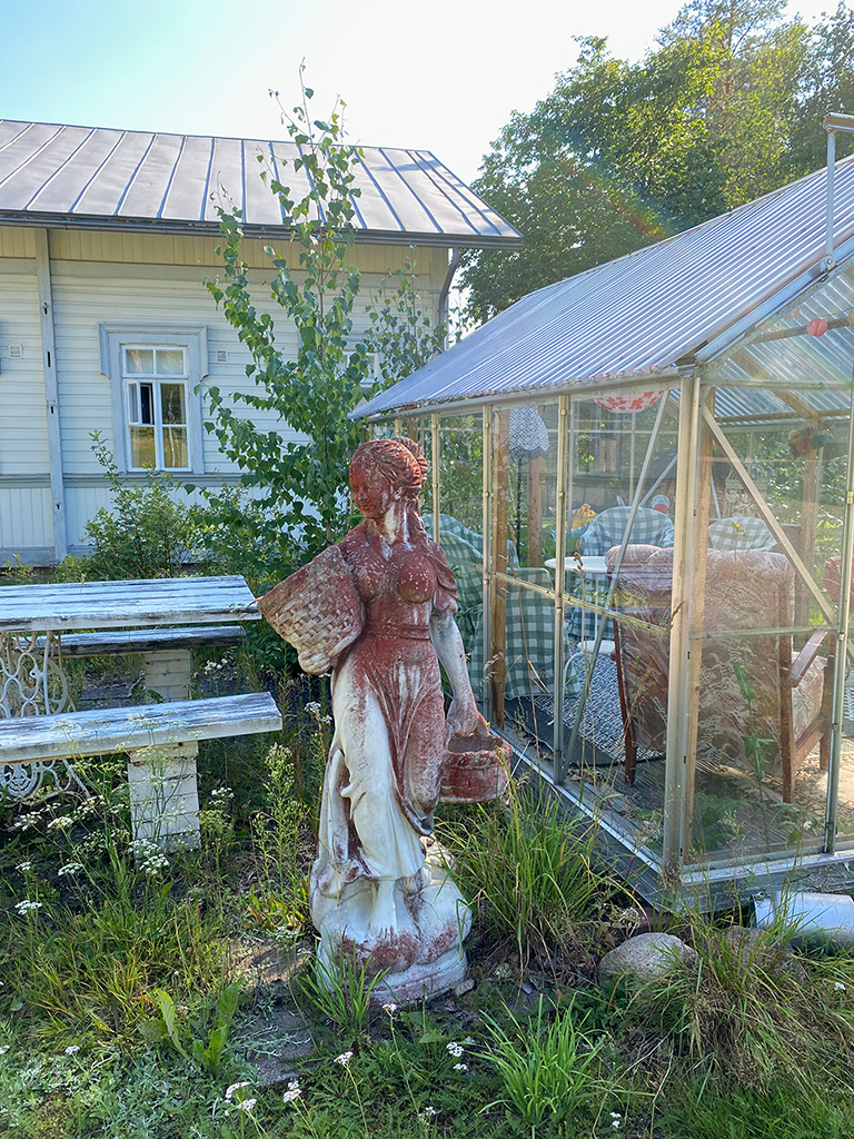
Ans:
[[[0,120],[0,223],[215,230],[223,191],[248,236],[281,233],[264,165],[297,197],[294,142]],[[522,235],[429,150],[364,147],[354,170],[356,236],[422,245],[517,246]]]

